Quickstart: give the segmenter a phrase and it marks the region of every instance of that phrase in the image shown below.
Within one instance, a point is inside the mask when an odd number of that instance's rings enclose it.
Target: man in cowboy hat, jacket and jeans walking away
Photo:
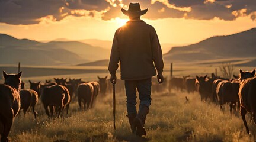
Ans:
[[[122,8],[121,11],[130,20],[116,30],[108,70],[110,81],[116,83],[120,61],[121,80],[124,80],[126,88],[127,117],[133,133],[142,136],[146,135],[144,124],[151,105],[151,78],[156,75],[156,70],[158,82],[164,81],[162,50],[155,29],[140,20],[148,9],[140,10],[139,3],[130,3],[128,10]],[[136,89],[140,99],[138,113]]]

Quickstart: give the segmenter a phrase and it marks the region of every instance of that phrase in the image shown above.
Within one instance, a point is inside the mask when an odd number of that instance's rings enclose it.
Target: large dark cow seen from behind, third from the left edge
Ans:
[[[60,112],[62,112],[64,107],[64,98],[65,89],[61,85],[44,86],[41,101],[43,102],[48,118],[53,118],[53,108],[55,108],[57,117],[59,118]],[[48,106],[51,114],[49,114]]]

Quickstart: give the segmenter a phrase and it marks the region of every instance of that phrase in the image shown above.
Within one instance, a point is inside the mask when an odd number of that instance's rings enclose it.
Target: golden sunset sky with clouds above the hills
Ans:
[[[255,0],[0,0],[0,33],[50,41],[112,40],[139,2],[161,43],[191,44],[256,27]]]

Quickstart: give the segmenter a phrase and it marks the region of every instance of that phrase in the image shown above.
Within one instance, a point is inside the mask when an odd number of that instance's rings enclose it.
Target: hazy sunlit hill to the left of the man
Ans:
[[[0,64],[70,65],[108,59],[110,49],[78,41],[41,43],[0,34]]]

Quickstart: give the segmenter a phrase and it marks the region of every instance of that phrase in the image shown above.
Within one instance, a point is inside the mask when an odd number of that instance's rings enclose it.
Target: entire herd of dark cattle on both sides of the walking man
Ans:
[[[85,82],[81,79],[59,79],[54,78],[55,82],[31,82],[30,89],[24,89],[21,82],[21,72],[14,75],[3,72],[4,84],[0,84],[0,134],[1,142],[8,141],[8,134],[11,130],[12,122],[18,112],[23,109],[24,114],[29,107],[32,108],[34,118],[37,117],[35,106],[41,99],[46,114],[53,118],[54,111],[56,117],[66,110],[68,114],[69,104],[77,100],[81,110],[87,110],[95,105],[98,94],[104,96],[111,93],[110,81],[98,76],[98,81]],[[165,79],[167,80],[167,79]],[[161,92],[165,89],[178,89],[188,93],[199,92],[201,101],[210,100],[220,105],[229,104],[230,112],[235,106],[240,106],[242,120],[249,134],[245,114],[249,112],[256,123],[256,77],[255,70],[243,72],[240,76],[233,79],[220,78],[212,74],[210,78],[206,76],[183,76],[183,78],[172,77],[158,85],[153,79],[152,92]],[[117,80],[116,92],[124,91],[124,82]],[[82,106],[84,105],[84,106]],[[49,113],[50,109],[50,113]]]

